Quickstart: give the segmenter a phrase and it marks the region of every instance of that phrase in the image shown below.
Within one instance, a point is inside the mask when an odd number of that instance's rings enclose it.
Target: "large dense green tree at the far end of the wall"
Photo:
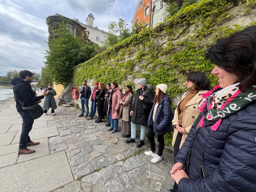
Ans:
[[[99,49],[98,45],[87,39],[74,36],[67,30],[66,24],[59,24],[54,33],[55,38],[47,43],[49,50],[46,50],[46,79],[65,87],[72,81],[74,67],[91,59]]]

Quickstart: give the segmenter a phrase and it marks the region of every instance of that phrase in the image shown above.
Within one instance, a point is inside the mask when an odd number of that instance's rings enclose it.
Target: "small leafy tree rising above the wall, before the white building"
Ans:
[[[128,23],[126,20],[119,18],[118,23],[113,21],[110,22],[108,28],[109,32],[102,31],[103,34],[106,35],[107,41],[104,42],[104,47],[109,48],[110,46],[113,46],[127,37],[130,37],[132,35],[131,29],[127,28]]]

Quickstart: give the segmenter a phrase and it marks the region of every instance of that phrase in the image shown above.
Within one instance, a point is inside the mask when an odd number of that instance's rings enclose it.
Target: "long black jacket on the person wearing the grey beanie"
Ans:
[[[142,89],[137,89],[136,91],[136,95],[135,95],[135,101],[134,104],[131,108],[131,111],[133,111],[133,115],[131,118],[131,122],[133,124],[137,124],[137,125],[144,125],[147,126],[147,119],[149,116],[149,112],[153,106],[153,99],[154,99],[154,94],[152,93],[152,86],[146,87],[146,90],[142,90]],[[143,100],[139,99],[139,96],[143,95]],[[147,106],[148,106],[148,113],[145,113],[142,107],[142,102],[144,102]]]

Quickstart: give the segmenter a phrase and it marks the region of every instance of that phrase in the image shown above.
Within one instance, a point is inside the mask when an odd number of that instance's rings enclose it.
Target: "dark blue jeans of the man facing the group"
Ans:
[[[30,113],[27,111],[18,112],[22,118],[22,129],[19,138],[19,149],[26,149],[27,143],[31,141],[30,137],[28,136],[29,132],[32,129],[34,119],[31,117]]]

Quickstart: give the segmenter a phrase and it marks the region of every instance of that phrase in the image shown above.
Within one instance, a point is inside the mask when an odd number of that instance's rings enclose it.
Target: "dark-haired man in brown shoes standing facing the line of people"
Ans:
[[[31,141],[30,137],[28,136],[29,132],[32,129],[34,119],[31,117],[30,113],[27,110],[22,109],[21,103],[25,102],[26,106],[33,105],[33,103],[35,102],[40,103],[42,102],[41,99],[44,99],[44,97],[48,94],[48,91],[44,92],[43,95],[36,97],[30,85],[34,73],[23,70],[20,71],[18,74],[20,78],[13,78],[13,80],[11,80],[11,84],[13,85],[16,109],[20,114],[23,122],[18,147],[18,155],[21,155],[34,153],[35,150],[28,149],[27,146],[35,146],[39,144],[39,142]]]

